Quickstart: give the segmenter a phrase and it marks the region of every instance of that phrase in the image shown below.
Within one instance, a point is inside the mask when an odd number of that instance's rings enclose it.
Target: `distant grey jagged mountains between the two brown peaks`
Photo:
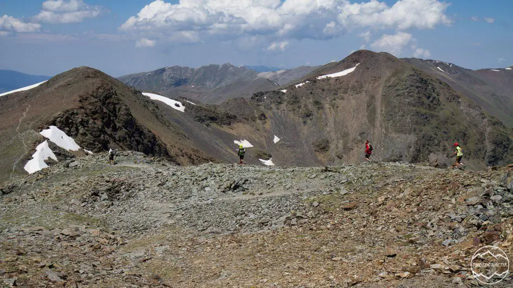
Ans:
[[[281,85],[301,78],[314,67],[258,73],[229,63],[200,68],[164,67],[150,72],[130,74],[118,79],[143,91],[159,92],[170,97],[187,97],[207,104],[218,104],[236,97],[276,90]]]

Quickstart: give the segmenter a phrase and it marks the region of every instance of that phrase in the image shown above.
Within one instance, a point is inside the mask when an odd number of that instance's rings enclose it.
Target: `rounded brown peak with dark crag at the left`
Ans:
[[[171,109],[172,110],[172,109]],[[176,163],[213,160],[189,145],[179,127],[152,100],[95,69],[81,67],[46,83],[0,97],[0,179],[25,173],[24,164],[57,126],[92,152],[131,149]],[[172,112],[169,112],[172,113]]]

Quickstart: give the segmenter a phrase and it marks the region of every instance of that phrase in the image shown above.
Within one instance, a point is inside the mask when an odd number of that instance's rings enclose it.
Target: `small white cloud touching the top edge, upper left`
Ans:
[[[48,0],[41,12],[31,19],[34,22],[52,24],[78,23],[85,18],[95,18],[104,12],[101,6],[91,6],[83,0]]]

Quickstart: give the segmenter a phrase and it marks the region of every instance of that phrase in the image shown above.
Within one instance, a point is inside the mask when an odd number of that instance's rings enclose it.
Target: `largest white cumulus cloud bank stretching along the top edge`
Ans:
[[[349,0],[180,0],[176,4],[155,0],[128,18],[120,30],[138,38],[169,39],[188,32],[198,40],[265,36],[278,43],[329,39],[353,28],[432,29],[451,24],[447,7],[439,0],[400,0],[392,6],[384,0],[353,4]]]

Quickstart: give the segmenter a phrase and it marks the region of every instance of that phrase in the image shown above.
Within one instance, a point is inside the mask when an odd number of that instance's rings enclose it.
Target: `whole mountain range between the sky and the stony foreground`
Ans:
[[[440,71],[436,61],[360,50],[337,63],[265,76],[224,64],[168,67],[120,81],[79,67],[0,97],[0,137],[7,139],[0,143],[0,175],[4,180],[25,173],[24,164],[45,140],[39,132],[50,126],[93,153],[134,150],[179,165],[234,162],[239,142],[248,147],[250,164],[355,163],[363,161],[365,139],[383,161],[430,161],[442,167],[452,143],[459,141],[469,168],[510,162],[513,133],[507,109],[512,99],[505,91],[511,89],[513,71],[488,74],[443,65],[454,71]],[[448,79],[437,70],[470,76]],[[270,85],[260,90],[264,86],[249,85],[249,79]],[[203,90],[193,90],[196,86]],[[247,87],[253,87],[251,92]],[[477,93],[480,89],[498,96],[489,99]],[[52,143],[50,149],[60,161],[86,155]]]

